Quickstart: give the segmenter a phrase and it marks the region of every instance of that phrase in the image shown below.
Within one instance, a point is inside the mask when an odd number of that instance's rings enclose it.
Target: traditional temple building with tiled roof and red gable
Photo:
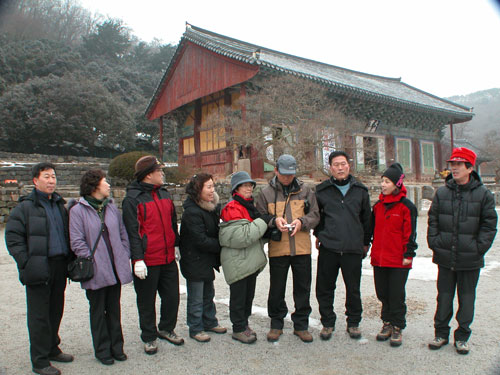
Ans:
[[[394,161],[413,181],[430,181],[445,166],[441,138],[445,126],[469,121],[472,109],[401,81],[292,56],[187,25],[174,57],[158,84],[146,116],[158,121],[160,143],[167,118],[176,118],[180,166],[227,176],[247,169],[253,178],[272,170],[273,154],[231,142],[232,129],[213,122],[220,108],[238,111],[245,121],[249,87],[266,76],[293,76],[326,88],[331,101],[361,127],[341,141],[325,140],[311,150],[324,163],[333,149],[345,149],[357,174],[377,174]],[[252,129],[252,131],[259,131]],[[324,132],[335,134],[335,123]],[[264,137],[264,135],[263,135]],[[272,150],[271,150],[272,151]],[[160,151],[161,153],[161,151]]]

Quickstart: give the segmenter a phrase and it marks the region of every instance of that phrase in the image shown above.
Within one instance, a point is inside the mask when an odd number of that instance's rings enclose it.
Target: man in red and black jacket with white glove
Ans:
[[[177,216],[170,194],[163,187],[163,165],[156,157],[140,158],[135,164],[135,178],[123,200],[123,220],[134,266],[141,339],[146,354],[155,354],[158,337],[175,345],[184,343],[174,331],[179,310]],[[158,329],[157,292],[161,298]]]

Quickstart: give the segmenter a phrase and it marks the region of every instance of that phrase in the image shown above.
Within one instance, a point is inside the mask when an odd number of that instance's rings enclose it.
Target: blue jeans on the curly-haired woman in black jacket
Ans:
[[[215,317],[217,311],[214,303],[214,282],[186,280],[186,286],[189,334],[196,335],[198,332],[217,327],[219,322]]]

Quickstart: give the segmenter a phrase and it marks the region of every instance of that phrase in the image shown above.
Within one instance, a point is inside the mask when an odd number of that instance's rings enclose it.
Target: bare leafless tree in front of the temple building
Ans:
[[[324,147],[352,154],[350,136],[364,127],[325,86],[290,75],[252,80],[237,104],[240,109],[220,108],[209,120],[226,129],[236,152],[244,157],[252,146],[270,164],[290,153],[301,173],[324,169]]]

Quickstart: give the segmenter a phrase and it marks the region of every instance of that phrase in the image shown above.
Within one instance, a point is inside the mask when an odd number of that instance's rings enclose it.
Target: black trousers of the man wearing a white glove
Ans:
[[[154,341],[160,331],[173,331],[179,311],[179,269],[177,262],[148,266],[148,276],[141,280],[134,275],[139,326],[143,342]],[[156,328],[156,293],[160,295],[160,322]]]

